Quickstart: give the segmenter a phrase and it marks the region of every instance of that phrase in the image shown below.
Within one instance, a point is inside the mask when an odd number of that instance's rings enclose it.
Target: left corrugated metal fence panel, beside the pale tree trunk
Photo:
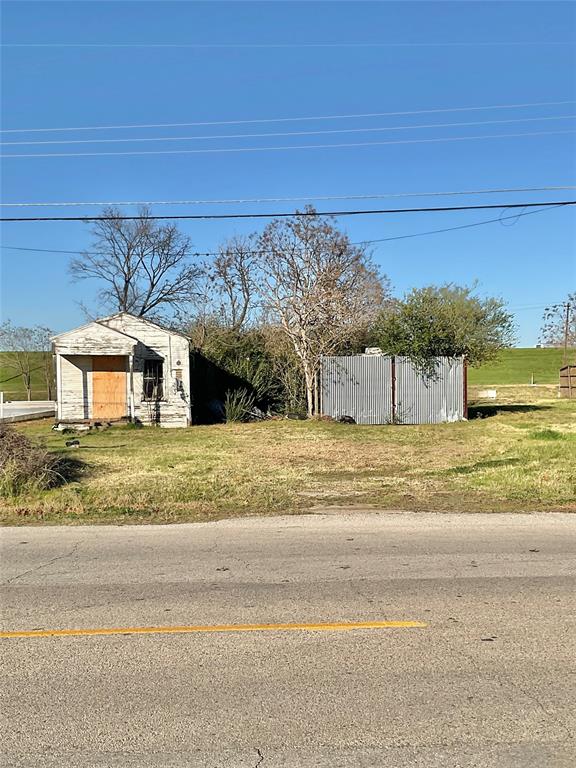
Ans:
[[[392,359],[382,355],[325,357],[322,360],[322,413],[357,424],[392,421]]]

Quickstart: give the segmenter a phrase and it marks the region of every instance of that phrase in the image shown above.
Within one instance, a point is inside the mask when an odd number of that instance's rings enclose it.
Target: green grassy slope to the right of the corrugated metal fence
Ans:
[[[489,384],[557,384],[562,365],[562,349],[505,349],[495,363],[468,369],[468,383]],[[576,350],[570,351],[570,362]],[[532,381],[534,376],[534,381]]]

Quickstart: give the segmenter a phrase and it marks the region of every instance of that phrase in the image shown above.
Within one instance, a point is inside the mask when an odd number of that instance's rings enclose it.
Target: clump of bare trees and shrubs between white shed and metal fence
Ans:
[[[323,355],[361,349],[389,301],[366,249],[307,206],[234,237],[204,266],[186,323],[193,344],[280,411],[319,414]]]

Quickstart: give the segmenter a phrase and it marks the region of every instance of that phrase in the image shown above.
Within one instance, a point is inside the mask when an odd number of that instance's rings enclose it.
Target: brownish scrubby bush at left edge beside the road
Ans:
[[[56,488],[77,477],[81,462],[47,450],[37,440],[0,424],[0,498]]]

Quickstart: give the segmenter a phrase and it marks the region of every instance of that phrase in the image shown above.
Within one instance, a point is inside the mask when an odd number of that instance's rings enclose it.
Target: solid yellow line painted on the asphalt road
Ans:
[[[0,638],[91,637],[93,635],[176,635],[195,632],[342,632],[351,629],[424,628],[422,621],[338,621],[318,624],[208,624],[176,627],[103,627],[101,629],[34,629],[0,632]]]

